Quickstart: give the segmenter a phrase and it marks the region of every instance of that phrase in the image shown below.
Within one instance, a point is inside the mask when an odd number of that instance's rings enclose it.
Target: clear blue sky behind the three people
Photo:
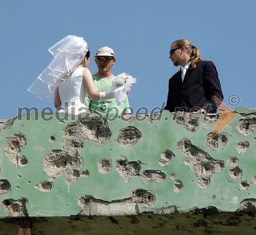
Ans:
[[[166,101],[168,79],[179,69],[168,52],[170,44],[181,38],[197,46],[204,60],[214,61],[226,105],[256,108],[255,73],[250,69],[255,68],[256,55],[255,0],[2,0],[0,4],[0,119],[17,116],[18,107],[55,110],[27,89],[52,60],[48,49],[67,35],[83,37],[92,55],[102,46],[113,48],[117,58],[113,74],[125,72],[137,78],[129,95],[135,111],[146,107],[151,112]],[[97,72],[93,58],[89,69]],[[232,95],[239,96],[239,104],[230,99]]]

